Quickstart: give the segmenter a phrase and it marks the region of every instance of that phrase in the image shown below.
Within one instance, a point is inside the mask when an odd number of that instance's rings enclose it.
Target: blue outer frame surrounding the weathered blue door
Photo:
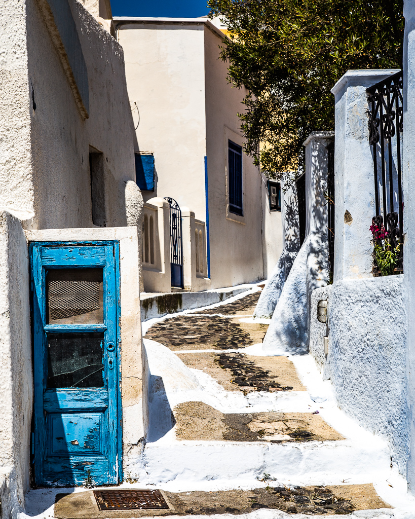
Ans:
[[[30,308],[31,308],[31,328],[32,328],[32,370],[34,377],[34,337],[35,337],[35,310],[33,307],[34,304],[34,264],[33,264],[33,255],[37,248],[40,247],[99,247],[99,246],[109,246],[113,249],[114,254],[114,264],[115,264],[115,284],[116,284],[116,352],[117,352],[117,370],[116,370],[116,403],[117,403],[117,444],[116,444],[116,453],[117,453],[117,483],[119,484],[123,481],[123,472],[122,472],[122,400],[121,400],[121,304],[120,304],[120,242],[119,240],[88,240],[88,241],[79,241],[79,240],[62,240],[62,241],[30,241],[29,242],[29,265],[30,265]],[[68,264],[68,268],[71,264]],[[43,294],[43,297],[45,295]],[[44,359],[43,359],[44,361]],[[42,399],[43,404],[43,399]],[[36,470],[36,453],[35,453],[35,406],[36,406],[36,388],[34,387],[34,398],[33,398],[33,419],[32,419],[32,427],[31,427],[31,438],[32,438],[32,448],[31,448],[31,464],[34,465],[34,473],[36,474],[35,479],[38,476],[38,470]],[[42,409],[43,411],[43,409]],[[44,452],[39,453],[38,455],[44,456]]]

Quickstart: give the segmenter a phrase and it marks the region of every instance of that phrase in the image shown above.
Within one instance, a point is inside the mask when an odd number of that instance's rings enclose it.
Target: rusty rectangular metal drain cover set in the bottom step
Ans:
[[[168,510],[160,490],[93,490],[100,510]]]

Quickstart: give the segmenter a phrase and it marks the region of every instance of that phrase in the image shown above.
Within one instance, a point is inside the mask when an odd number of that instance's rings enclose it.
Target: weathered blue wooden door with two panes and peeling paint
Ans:
[[[118,247],[30,246],[37,485],[121,479]]]

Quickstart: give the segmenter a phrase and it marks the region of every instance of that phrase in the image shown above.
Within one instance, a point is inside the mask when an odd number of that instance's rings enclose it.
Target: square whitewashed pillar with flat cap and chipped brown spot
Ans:
[[[331,89],[336,103],[334,281],[368,278],[375,182],[366,89],[399,70],[349,70]]]

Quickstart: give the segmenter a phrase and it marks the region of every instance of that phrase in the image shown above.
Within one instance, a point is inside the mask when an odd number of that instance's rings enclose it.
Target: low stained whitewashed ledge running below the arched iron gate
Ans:
[[[141,320],[147,321],[155,317],[165,316],[192,308],[222,303],[242,292],[252,290],[250,286],[237,286],[226,289],[206,290],[204,292],[172,292],[166,294],[141,294]]]

